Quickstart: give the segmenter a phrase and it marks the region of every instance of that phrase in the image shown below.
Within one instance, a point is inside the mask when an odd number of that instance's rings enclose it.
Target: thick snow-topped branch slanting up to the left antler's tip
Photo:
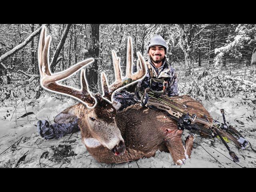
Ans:
[[[35,36],[37,36],[39,34],[39,32],[41,31],[41,28],[42,28],[42,26],[40,28],[38,28],[37,30],[35,30],[32,34],[30,34],[30,36],[28,36],[24,40],[24,42],[22,42],[21,44],[18,44],[12,50],[3,54],[0,57],[0,63],[3,62],[4,60],[6,60],[8,57],[12,56],[14,53],[18,52],[20,49],[24,48]]]

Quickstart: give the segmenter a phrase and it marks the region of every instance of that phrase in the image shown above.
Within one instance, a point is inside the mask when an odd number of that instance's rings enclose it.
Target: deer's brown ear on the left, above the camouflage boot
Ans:
[[[74,114],[74,106],[71,106],[61,113],[59,113],[55,118],[55,123],[72,123],[76,121],[78,117]]]

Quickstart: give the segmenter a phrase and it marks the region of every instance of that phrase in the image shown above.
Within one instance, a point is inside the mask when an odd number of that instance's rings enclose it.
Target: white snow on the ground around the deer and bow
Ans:
[[[228,150],[217,138],[202,138],[195,136],[191,159],[186,160],[182,166],[177,166],[170,153],[157,151],[151,158],[122,164],[98,163],[81,143],[80,132],[68,134],[59,140],[44,140],[39,136],[36,124],[38,120],[50,120],[59,112],[74,104],[71,98],[57,100],[48,95],[39,98],[34,106],[20,104],[14,112],[11,103],[0,108],[0,167],[44,168],[44,167],[70,167],[70,168],[240,168],[256,167],[256,153],[250,146],[245,150],[238,149],[233,143],[228,143],[239,157],[240,162],[231,160]],[[254,110],[242,102],[241,98],[222,98],[221,101],[202,100],[214,119],[222,122],[220,108],[226,112],[226,120],[238,129],[252,147],[256,149],[255,118],[250,118]],[[6,119],[7,110],[10,113]],[[24,118],[18,118],[26,112],[34,112]],[[12,115],[13,113],[13,115]],[[183,139],[188,135],[184,131]],[[11,147],[12,146],[12,147]],[[62,155],[60,155],[62,154]],[[25,156],[24,156],[25,155]],[[23,157],[23,158],[22,158]],[[22,161],[18,162],[21,158]]]

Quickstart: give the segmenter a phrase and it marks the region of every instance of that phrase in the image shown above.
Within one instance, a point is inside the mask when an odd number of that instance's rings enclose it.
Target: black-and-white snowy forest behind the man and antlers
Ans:
[[[50,68],[53,73],[86,58],[95,58],[95,62],[86,68],[92,92],[101,87],[100,72],[104,71],[110,82],[114,81],[111,50],[121,58],[124,74],[128,36],[132,37],[136,62],[136,52],[141,52],[146,58],[147,42],[155,34],[160,34],[169,47],[168,61],[180,77],[184,72],[189,78],[200,66],[203,68],[200,74],[196,72],[201,75],[198,80],[212,75],[211,68],[227,71],[231,70],[228,66],[235,65],[245,66],[252,75],[255,71],[255,63],[251,62],[256,45],[255,24],[46,24],[46,27],[47,34],[52,36]],[[22,89],[28,99],[36,100],[45,94],[39,83],[37,58],[41,28],[42,24],[0,24],[1,105],[4,100],[15,101],[20,97],[15,91],[17,88]],[[79,87],[78,76],[79,73],[65,80],[64,84]],[[212,77],[216,78],[216,74]],[[251,80],[246,84],[250,88],[254,78]],[[207,99],[206,89],[209,85],[216,85],[216,81],[204,84],[204,90],[190,87],[186,93],[194,97],[204,95]],[[216,90],[216,96],[232,96],[232,91],[241,90],[242,86],[225,93],[223,89],[224,85]]]

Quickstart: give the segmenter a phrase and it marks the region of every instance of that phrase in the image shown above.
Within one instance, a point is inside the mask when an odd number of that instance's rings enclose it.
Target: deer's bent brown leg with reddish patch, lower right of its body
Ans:
[[[166,147],[172,155],[174,163],[178,165],[182,165],[184,160],[186,160],[181,134],[182,130],[167,129],[167,135],[165,138]]]

